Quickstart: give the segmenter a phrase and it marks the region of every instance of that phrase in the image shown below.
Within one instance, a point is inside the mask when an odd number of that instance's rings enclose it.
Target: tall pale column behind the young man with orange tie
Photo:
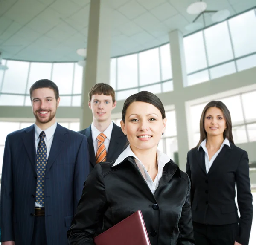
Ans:
[[[88,108],[88,92],[97,83],[109,84],[112,9],[105,0],[90,1],[86,66],[83,72],[80,128],[88,127],[93,115]]]

